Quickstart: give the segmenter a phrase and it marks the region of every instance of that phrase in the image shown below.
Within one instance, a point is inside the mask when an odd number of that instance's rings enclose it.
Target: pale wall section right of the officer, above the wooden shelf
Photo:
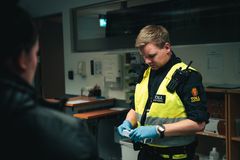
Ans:
[[[186,63],[193,60],[204,84],[238,84],[240,86],[240,43],[174,46]]]

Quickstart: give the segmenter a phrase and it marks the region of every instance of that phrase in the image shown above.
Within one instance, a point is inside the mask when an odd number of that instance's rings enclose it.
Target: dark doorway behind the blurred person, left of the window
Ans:
[[[35,86],[46,98],[65,94],[62,14],[36,19],[39,28],[39,66]]]

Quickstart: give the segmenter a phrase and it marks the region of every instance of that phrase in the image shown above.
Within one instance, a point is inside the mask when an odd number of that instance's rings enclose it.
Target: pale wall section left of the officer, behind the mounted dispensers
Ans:
[[[125,52],[118,51],[116,54],[122,54]],[[99,85],[102,89],[103,96],[125,99],[124,90],[111,90],[106,88],[104,84],[104,76],[103,74],[99,75],[91,75],[90,72],[90,60],[100,61],[102,65],[104,65],[104,55],[108,54],[107,52],[99,52],[99,53],[80,53],[80,54],[71,54],[71,56],[67,56],[67,60],[65,60],[65,75],[67,75],[68,70],[74,71],[74,79],[69,80],[67,76],[65,76],[66,83],[66,93],[68,94],[80,94],[81,89],[85,90],[92,88],[94,85]],[[86,77],[82,77],[77,74],[77,64],[79,61],[84,61],[86,64]],[[84,93],[86,95],[86,92]]]

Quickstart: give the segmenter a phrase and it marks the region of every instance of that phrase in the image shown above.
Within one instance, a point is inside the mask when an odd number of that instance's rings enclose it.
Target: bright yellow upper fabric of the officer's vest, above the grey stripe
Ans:
[[[186,68],[184,63],[178,63],[174,65],[167,76],[162,81],[158,88],[157,95],[165,95],[165,103],[152,103],[151,108],[147,116],[159,117],[159,118],[185,118],[185,108],[181,99],[176,92],[170,93],[167,91],[167,84],[171,80],[171,77],[176,69],[179,67]],[[135,90],[135,110],[137,113],[142,114],[144,107],[148,99],[148,81],[150,76],[150,67],[145,71],[143,80],[137,84]]]

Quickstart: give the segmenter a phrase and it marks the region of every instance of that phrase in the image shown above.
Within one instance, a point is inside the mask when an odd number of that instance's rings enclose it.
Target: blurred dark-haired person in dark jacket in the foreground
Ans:
[[[7,1],[0,16],[0,159],[96,160],[85,122],[39,101],[31,85],[39,42],[30,15]]]

